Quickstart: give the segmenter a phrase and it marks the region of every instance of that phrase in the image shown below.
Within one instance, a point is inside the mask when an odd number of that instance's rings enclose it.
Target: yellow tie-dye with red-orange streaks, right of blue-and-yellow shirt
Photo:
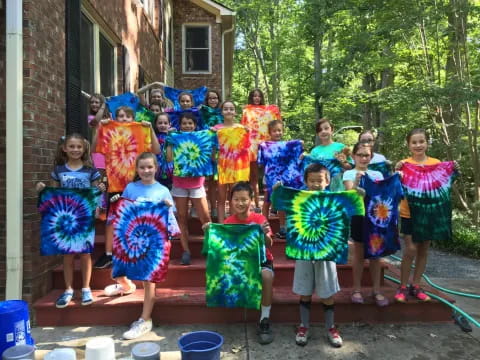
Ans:
[[[233,184],[250,178],[250,135],[242,126],[217,131],[218,182]]]

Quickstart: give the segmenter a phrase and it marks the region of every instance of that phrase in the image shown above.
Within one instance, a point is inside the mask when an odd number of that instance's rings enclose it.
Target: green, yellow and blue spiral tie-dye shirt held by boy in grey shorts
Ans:
[[[272,204],[287,215],[288,258],[347,262],[350,218],[365,213],[355,190],[306,191],[279,186],[273,191]]]

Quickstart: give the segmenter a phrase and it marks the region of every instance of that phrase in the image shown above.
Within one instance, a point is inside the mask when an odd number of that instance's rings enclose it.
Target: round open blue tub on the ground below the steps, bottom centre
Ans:
[[[223,336],[213,331],[194,331],[178,339],[182,360],[219,360]]]

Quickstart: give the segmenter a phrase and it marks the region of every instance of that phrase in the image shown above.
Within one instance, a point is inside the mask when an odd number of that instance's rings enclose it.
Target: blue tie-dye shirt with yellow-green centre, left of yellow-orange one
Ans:
[[[212,151],[216,147],[216,139],[216,134],[210,130],[170,133],[167,144],[173,150],[173,175],[213,175]]]

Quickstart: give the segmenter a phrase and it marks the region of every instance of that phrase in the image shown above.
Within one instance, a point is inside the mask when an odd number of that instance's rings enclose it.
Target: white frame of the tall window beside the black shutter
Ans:
[[[95,18],[90,15],[88,10],[82,5],[82,15],[84,15],[93,24],[93,88],[95,93],[101,92],[100,80],[100,34],[107,40],[113,48],[113,94],[106,96],[114,96],[118,94],[118,47],[115,41],[103,31]],[[83,90],[83,89],[82,89]]]

